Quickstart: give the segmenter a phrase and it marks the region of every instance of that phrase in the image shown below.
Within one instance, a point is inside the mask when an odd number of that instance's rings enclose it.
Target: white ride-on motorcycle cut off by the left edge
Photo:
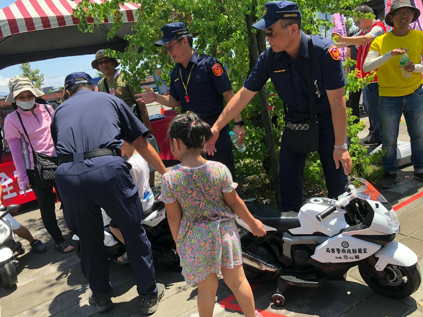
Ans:
[[[20,205],[10,205],[7,208],[0,208],[0,288],[10,288],[18,282],[15,268],[19,262],[14,254],[15,252],[24,254],[25,248],[22,243],[16,242],[10,221],[3,217],[8,213],[15,212],[20,207]]]

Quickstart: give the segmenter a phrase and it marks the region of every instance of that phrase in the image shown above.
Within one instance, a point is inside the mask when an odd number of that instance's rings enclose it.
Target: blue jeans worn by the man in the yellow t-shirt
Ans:
[[[382,124],[382,147],[387,150],[382,158],[384,172],[398,172],[396,149],[399,121],[404,113],[411,141],[411,163],[416,173],[423,172],[423,88],[401,97],[379,97]]]

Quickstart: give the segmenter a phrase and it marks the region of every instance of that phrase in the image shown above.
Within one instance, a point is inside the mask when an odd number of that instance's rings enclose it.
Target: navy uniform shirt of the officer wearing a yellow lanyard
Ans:
[[[192,68],[192,66],[194,66]],[[191,77],[187,85],[188,77]],[[179,74],[187,85],[187,93],[190,101],[185,99],[185,88]],[[210,126],[212,126],[223,110],[222,93],[232,89],[225,68],[214,58],[200,54],[197,51],[192,54],[190,63],[184,68],[180,63],[176,64],[170,75],[170,96],[181,102],[181,112],[193,111]],[[228,129],[222,129],[222,137],[216,142],[216,148],[224,149],[231,146],[228,137]]]

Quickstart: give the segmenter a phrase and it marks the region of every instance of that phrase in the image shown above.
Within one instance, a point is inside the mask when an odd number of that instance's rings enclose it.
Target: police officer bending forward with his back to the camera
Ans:
[[[56,109],[52,136],[58,157],[55,181],[64,217],[80,238],[82,273],[90,283],[89,301],[99,312],[110,309],[111,286],[104,248],[103,208],[121,229],[140,294],[141,313],[156,311],[165,286],[154,279],[151,245],[141,220],[138,187],[121,158],[124,137],[158,172],[166,168],[145,137],[148,129],[122,99],[94,92],[90,75],[66,77],[69,99]]]

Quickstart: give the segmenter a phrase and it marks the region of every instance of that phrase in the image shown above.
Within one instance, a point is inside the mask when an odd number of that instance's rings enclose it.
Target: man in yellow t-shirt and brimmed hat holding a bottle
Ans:
[[[396,148],[403,113],[411,141],[414,178],[423,180],[423,31],[409,28],[419,16],[420,11],[410,0],[394,0],[385,17],[385,23],[394,29],[374,39],[363,65],[366,72],[377,68],[379,80],[382,147],[387,150],[382,158],[383,188],[391,188],[397,179]],[[405,52],[409,62],[400,66],[400,55]]]

